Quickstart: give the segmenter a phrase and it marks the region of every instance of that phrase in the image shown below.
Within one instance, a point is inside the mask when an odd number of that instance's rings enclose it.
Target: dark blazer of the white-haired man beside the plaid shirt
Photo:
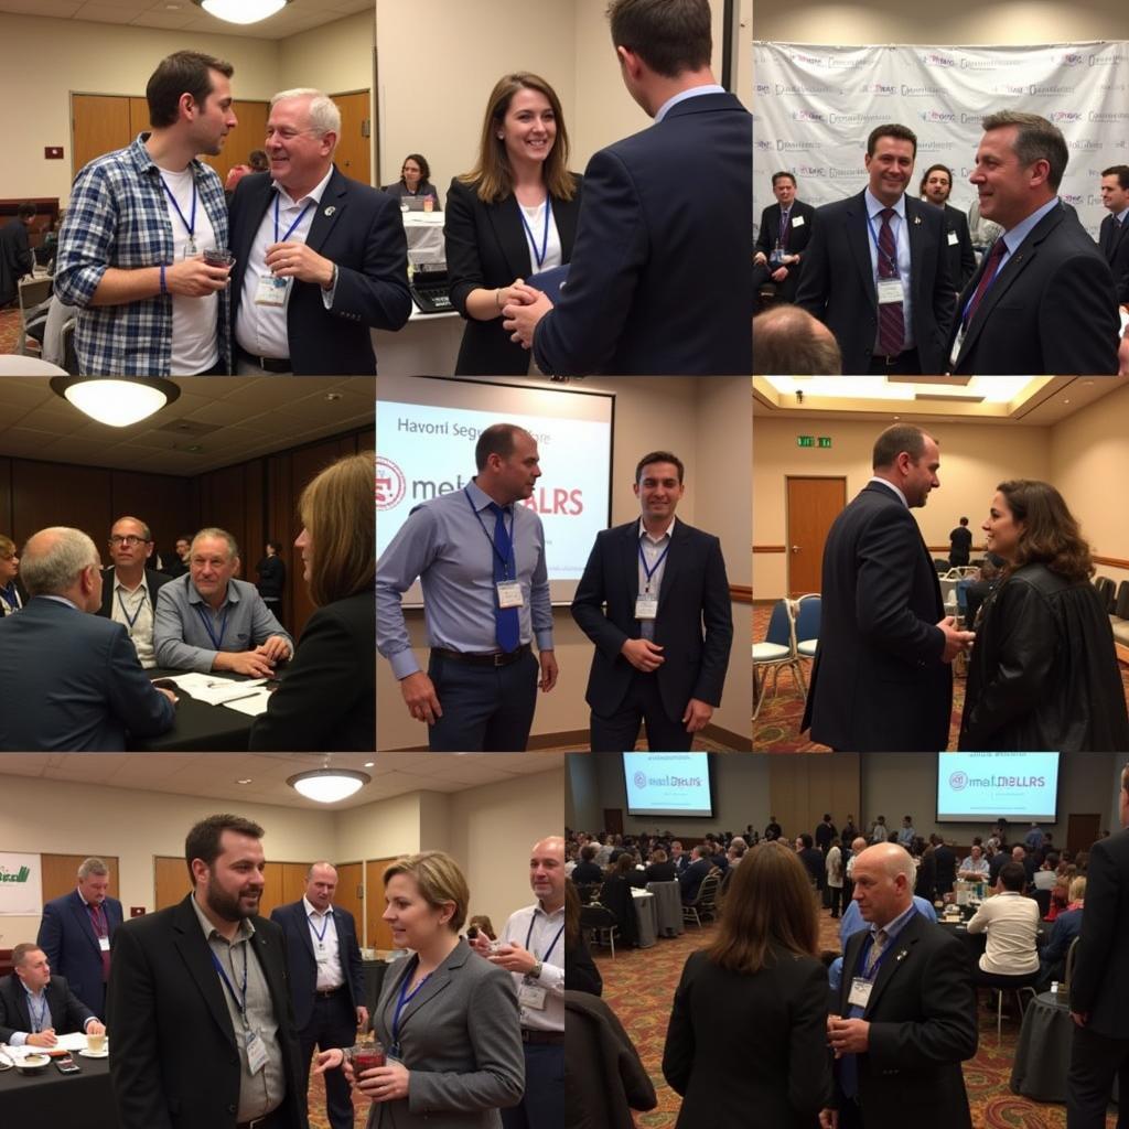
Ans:
[[[252,173],[239,181],[231,200],[233,326],[239,316],[251,246],[274,200],[272,184],[269,173]],[[399,201],[334,168],[314,211],[306,246],[336,263],[338,286],[333,308],[326,309],[320,286],[292,282],[287,334],[294,371],[298,376],[375,375],[369,330],[399,330],[412,312],[408,238]]]

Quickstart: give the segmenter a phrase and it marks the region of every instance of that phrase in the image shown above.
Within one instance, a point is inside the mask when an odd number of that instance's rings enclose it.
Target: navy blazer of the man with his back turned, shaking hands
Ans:
[[[584,177],[568,286],[533,340],[537,367],[572,376],[751,373],[745,107],[732,94],[680,102],[597,152]]]

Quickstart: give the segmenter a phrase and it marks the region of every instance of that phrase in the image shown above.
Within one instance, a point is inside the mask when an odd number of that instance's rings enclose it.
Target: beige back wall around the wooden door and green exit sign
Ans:
[[[874,440],[884,425],[833,415],[803,419],[753,418],[753,543],[779,549],[787,543],[786,476],[847,476],[850,501],[870,478]],[[1048,428],[992,423],[927,423],[940,443],[940,489],[913,516],[934,557],[948,555],[948,534],[968,517],[973,545],[983,545],[981,523],[996,485],[1005,479],[1051,476]],[[797,435],[829,436],[830,448],[797,447]],[[973,550],[977,551],[975,549]],[[787,555],[753,553],[753,595],[787,595]]]

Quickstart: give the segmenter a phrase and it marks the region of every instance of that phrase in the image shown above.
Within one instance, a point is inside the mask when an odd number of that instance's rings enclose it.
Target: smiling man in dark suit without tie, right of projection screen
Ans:
[[[690,749],[721,702],[729,581],[718,539],[675,520],[683,471],[669,452],[644,455],[633,487],[641,517],[597,534],[572,599],[596,645],[586,694],[594,752],[634,749],[640,720],[649,749]]]

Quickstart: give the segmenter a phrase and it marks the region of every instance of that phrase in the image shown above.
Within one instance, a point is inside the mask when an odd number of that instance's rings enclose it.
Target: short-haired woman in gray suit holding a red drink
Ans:
[[[373,1015],[387,1062],[355,1079],[373,1100],[368,1129],[499,1129],[499,1108],[525,1089],[522,1027],[510,974],[458,936],[466,878],[449,855],[423,851],[384,872],[384,898],[393,944],[414,955],[385,977]],[[322,1051],[314,1073],[345,1057]]]

